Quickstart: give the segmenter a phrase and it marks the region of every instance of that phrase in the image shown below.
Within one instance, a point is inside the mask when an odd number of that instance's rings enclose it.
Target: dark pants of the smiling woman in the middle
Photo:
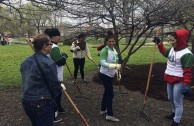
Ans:
[[[105,74],[99,74],[100,79],[104,85],[104,94],[101,101],[101,111],[107,110],[109,116],[113,116],[112,101],[113,101],[113,77]]]

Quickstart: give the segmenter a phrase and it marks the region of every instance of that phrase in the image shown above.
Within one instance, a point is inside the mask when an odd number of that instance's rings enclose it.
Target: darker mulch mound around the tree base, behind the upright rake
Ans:
[[[143,95],[146,90],[147,83],[148,96],[154,99],[167,101],[166,82],[163,79],[164,71],[166,69],[166,63],[155,63],[152,68],[150,82],[148,83],[148,75],[150,65],[131,65],[126,66],[120,82],[115,81],[115,85],[124,85],[126,89],[130,91],[140,91]],[[93,81],[101,84],[100,78],[96,74],[93,76]],[[194,79],[191,86],[194,85]],[[185,97],[187,100],[194,101],[194,92],[191,96]]]

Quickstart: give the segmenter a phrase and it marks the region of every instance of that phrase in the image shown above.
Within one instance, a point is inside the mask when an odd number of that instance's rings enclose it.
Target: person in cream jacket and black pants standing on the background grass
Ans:
[[[80,33],[77,36],[77,40],[72,43],[70,48],[70,51],[73,53],[74,80],[77,79],[78,70],[80,69],[80,74],[83,82],[87,82],[84,76],[85,56],[87,55],[87,57],[92,59],[85,39],[86,34]]]

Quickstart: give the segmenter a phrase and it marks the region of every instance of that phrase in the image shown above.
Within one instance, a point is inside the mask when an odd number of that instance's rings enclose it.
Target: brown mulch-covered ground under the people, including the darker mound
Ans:
[[[87,75],[88,83],[78,80],[77,84],[83,95],[80,95],[72,80],[66,82],[66,91],[90,126],[169,126],[171,121],[164,118],[164,115],[171,113],[166,83],[163,81],[166,65],[153,65],[148,98],[144,103],[149,67],[149,65],[127,66],[120,83],[115,81],[113,110],[114,116],[118,117],[120,122],[106,121],[105,116],[98,115],[104,89],[97,72]],[[0,126],[31,125],[21,105],[21,88],[0,88],[0,96]],[[194,126],[193,103],[193,93],[190,97],[184,98],[181,126]],[[62,105],[68,112],[59,115],[63,120],[55,126],[83,126],[78,113],[65,95],[62,97]]]

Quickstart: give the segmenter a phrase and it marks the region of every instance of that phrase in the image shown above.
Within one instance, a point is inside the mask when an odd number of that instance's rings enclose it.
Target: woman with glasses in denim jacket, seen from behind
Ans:
[[[48,36],[38,34],[34,37],[33,47],[34,55],[20,66],[22,105],[32,126],[53,126],[53,99],[61,93],[61,82],[57,78],[56,65],[47,57],[52,43]]]

